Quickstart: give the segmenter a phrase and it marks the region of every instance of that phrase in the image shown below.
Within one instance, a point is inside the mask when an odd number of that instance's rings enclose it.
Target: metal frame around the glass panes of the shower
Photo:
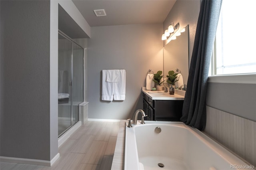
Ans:
[[[71,99],[70,99],[71,100],[71,103],[70,103],[71,119],[70,119],[70,126],[67,127],[60,134],[58,134],[58,138],[60,138],[63,134],[65,134],[66,131],[68,131],[70,128],[72,128],[74,125],[76,125],[80,121],[80,114],[78,112],[78,121],[73,124],[73,116],[74,116],[73,115],[73,53],[74,53],[74,43],[83,49],[83,83],[84,83],[84,48],[81,45],[79,45],[78,43],[74,42],[74,40],[72,40],[72,38],[67,36],[61,30],[58,30],[58,34],[63,36],[64,38],[66,38],[66,40],[71,42],[71,63],[70,63],[71,64],[71,67],[70,67],[71,68],[71,79],[70,79],[70,86],[71,86],[71,89],[70,89],[70,93],[71,93],[71,95],[70,95],[71,96]],[[83,85],[83,87],[84,87],[84,85]],[[83,89],[83,92],[84,92],[84,89]],[[84,94],[82,96],[83,96],[83,101],[84,101]],[[58,126],[58,128],[59,128],[59,126]]]

